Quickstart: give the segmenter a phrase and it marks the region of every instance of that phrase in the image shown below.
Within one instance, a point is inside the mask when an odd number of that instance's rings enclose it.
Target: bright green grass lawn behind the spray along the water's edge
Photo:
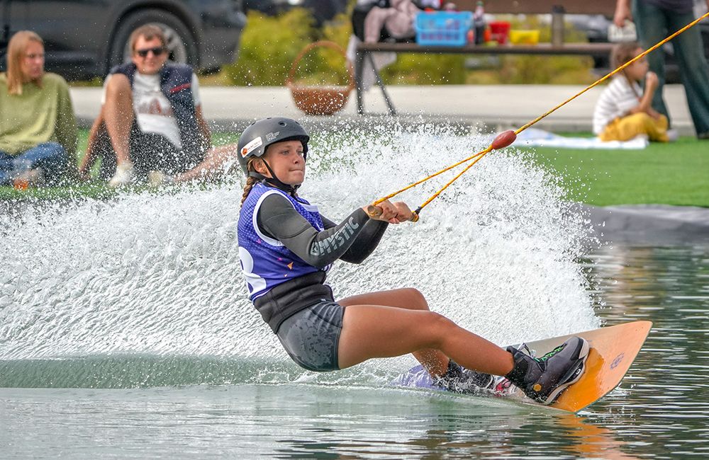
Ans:
[[[79,132],[79,152],[86,151],[88,132]],[[578,135],[578,134],[576,134]],[[237,134],[217,132],[213,142],[236,142]],[[662,204],[709,207],[709,142],[683,137],[672,144],[650,144],[643,150],[576,150],[535,147],[534,161],[557,171],[568,199],[589,205]],[[145,186],[136,190],[145,190]],[[18,191],[0,187],[0,200],[107,198],[116,195],[104,183],[70,188]]]

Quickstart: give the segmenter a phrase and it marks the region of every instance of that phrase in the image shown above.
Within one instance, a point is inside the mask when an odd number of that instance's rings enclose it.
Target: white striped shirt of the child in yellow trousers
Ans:
[[[605,126],[618,117],[624,117],[640,104],[642,88],[624,75],[616,75],[605,87],[593,110],[593,134],[601,134]]]

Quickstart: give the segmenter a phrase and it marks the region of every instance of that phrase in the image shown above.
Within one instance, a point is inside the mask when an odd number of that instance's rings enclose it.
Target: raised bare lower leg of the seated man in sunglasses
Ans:
[[[119,166],[130,164],[128,142],[130,127],[133,126],[133,91],[127,76],[113,74],[108,80],[103,110],[106,130],[111,136],[113,150],[116,151],[116,162]]]

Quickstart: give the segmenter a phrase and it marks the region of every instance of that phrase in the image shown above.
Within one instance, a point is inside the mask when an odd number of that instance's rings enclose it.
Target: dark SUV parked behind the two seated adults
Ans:
[[[48,71],[103,77],[130,58],[128,37],[146,23],[165,30],[170,59],[211,71],[235,61],[246,16],[242,0],[0,0],[0,68],[12,34],[33,30]]]

